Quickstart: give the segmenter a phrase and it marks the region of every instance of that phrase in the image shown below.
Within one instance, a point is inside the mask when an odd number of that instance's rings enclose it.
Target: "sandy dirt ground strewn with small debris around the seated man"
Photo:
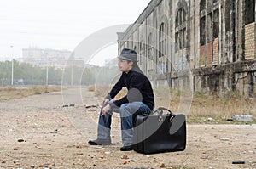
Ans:
[[[184,151],[142,155],[119,151],[114,115],[113,145],[91,146],[98,107],[84,105],[96,104],[87,88],[0,102],[0,168],[256,168],[255,124],[188,124]]]

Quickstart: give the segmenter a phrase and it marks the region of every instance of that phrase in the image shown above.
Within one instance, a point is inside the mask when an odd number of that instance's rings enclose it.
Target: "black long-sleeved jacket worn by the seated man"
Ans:
[[[110,104],[111,108],[137,101],[147,104],[151,110],[154,109],[154,93],[151,83],[138,67],[133,67],[128,73],[123,72],[106,98],[113,99],[123,87],[128,89],[127,95],[122,99],[114,100],[113,104]]]

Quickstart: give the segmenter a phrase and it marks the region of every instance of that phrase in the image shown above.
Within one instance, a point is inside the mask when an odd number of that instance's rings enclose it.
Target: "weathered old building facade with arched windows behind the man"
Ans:
[[[154,85],[256,96],[255,0],[152,0],[125,32]],[[190,73],[189,73],[190,72]]]

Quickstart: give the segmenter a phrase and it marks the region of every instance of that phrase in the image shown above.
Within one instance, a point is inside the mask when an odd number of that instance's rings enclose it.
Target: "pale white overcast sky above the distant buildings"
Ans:
[[[2,0],[0,59],[22,57],[22,48],[74,48],[108,26],[131,24],[150,0]],[[13,46],[13,48],[11,48]]]

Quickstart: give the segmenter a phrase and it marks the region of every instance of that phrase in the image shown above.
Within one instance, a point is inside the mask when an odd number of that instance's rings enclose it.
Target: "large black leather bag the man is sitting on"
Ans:
[[[163,110],[168,113],[163,114]],[[174,115],[171,110],[160,107],[151,115],[137,115],[134,122],[135,151],[154,154],[186,148],[185,115]]]

